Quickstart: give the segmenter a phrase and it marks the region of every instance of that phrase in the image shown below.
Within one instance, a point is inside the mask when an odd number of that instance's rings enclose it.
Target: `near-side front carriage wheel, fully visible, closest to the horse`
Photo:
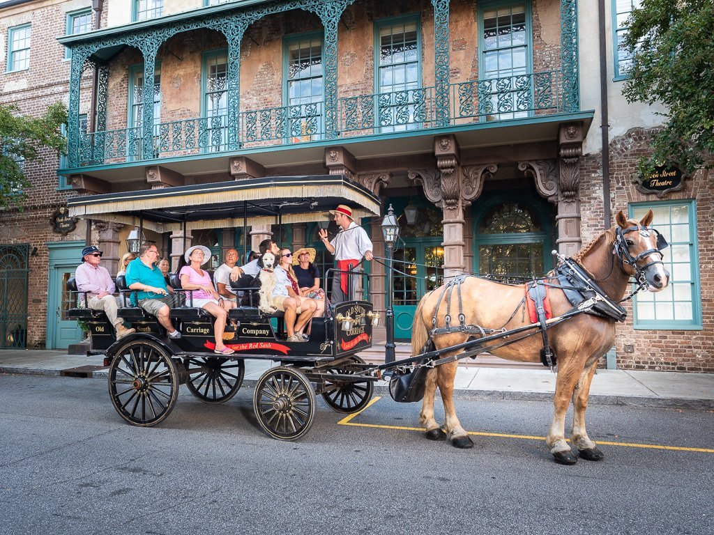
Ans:
[[[315,392],[305,374],[278,366],[258,379],[253,409],[263,431],[278,440],[296,440],[315,419]]]

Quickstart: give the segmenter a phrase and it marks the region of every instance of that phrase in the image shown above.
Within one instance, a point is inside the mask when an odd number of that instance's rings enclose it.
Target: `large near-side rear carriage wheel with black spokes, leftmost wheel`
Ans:
[[[178,398],[176,363],[156,342],[129,342],[109,365],[109,397],[130,424],[151,427],[163,422]]]

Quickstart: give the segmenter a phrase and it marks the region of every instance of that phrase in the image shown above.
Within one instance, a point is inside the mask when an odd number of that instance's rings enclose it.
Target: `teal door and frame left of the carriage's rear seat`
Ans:
[[[64,350],[82,340],[82,330],[67,312],[75,307],[75,296],[67,290],[67,280],[81,262],[84,242],[47,243],[49,284],[47,287],[47,349]]]

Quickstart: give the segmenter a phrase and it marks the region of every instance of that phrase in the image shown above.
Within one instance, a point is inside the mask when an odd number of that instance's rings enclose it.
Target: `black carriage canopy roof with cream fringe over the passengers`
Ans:
[[[164,233],[326,220],[348,204],[356,218],[380,215],[378,197],[343,175],[282,176],[71,198],[69,214]]]

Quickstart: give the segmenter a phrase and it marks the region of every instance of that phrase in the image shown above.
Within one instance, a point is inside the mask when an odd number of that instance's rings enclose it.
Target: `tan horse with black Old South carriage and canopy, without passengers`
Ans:
[[[183,229],[186,235],[187,225],[194,229],[242,224],[247,230],[247,225],[314,221],[345,201],[356,207],[358,217],[379,214],[378,199],[368,190],[331,175],[94,195],[70,200],[69,208],[74,216],[146,225],[159,232]],[[554,272],[526,285],[504,285],[473,275],[453,278],[419,303],[413,355],[378,366],[366,365],[356,355],[371,347],[372,325],[378,317],[368,301],[345,302],[326,317],[313,318],[307,343],[284,340],[280,323],[276,327],[257,307],[230,310],[229,317],[238,323],[226,341],[236,350],[231,357],[210,351],[212,318],[200,308],[171,310],[181,329],[179,340],[169,340],[154,317],[139,308],[121,310],[120,316],[137,332],[119,341],[103,313],[76,309],[71,315],[89,322],[93,350],[106,353],[110,362],[114,407],[127,422],[139,426],[158,424],[169,415],[179,384],[185,383],[203,402],[221,403],[240,389],[244,359],[279,362],[258,380],[253,409],[261,427],[283,440],[308,432],[316,394],[337,411],[358,412],[371,399],[373,382],[386,376],[397,401],[423,398],[420,422],[426,437],[471,447],[453,404],[457,361],[488,351],[554,368],[557,358],[555,414],[546,443],[557,462],[574,464],[577,459],[564,434],[571,399],[570,441],[581,458],[603,458],[585,432],[585,409],[598,360],[613,345],[615,322],[625,319],[618,303],[629,298],[625,293],[630,277],[635,278],[635,291],[658,291],[668,285],[661,252],[667,243],[650,228],[652,219],[651,211],[639,221],[618,213],[613,228],[573,258],[559,257]],[[436,387],[446,413],[443,425],[434,419]]]

